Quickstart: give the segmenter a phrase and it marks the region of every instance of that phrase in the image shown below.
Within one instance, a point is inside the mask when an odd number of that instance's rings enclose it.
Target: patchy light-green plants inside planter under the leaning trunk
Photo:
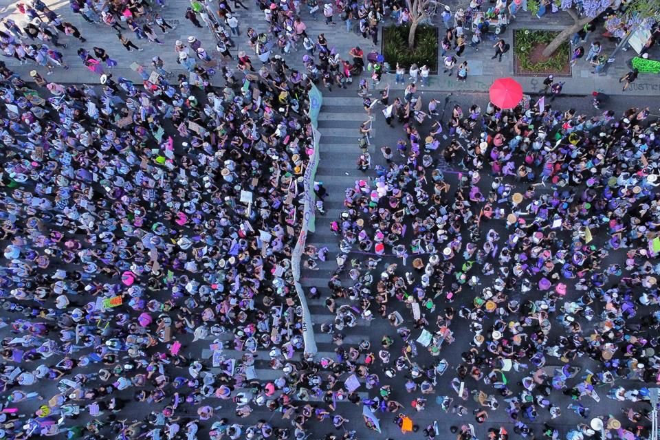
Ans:
[[[561,72],[569,63],[569,52],[571,47],[568,41],[564,41],[555,53],[546,60],[534,61],[529,58],[532,50],[538,46],[547,46],[559,32],[549,30],[514,30],[514,52],[520,61],[520,68],[527,72],[545,73]]]

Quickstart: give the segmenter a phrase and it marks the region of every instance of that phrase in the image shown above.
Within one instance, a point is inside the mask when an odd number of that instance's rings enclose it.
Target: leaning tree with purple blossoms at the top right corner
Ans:
[[[543,50],[543,56],[551,56],[560,45],[571,38],[575,32],[579,32],[584,25],[591,23],[614,3],[613,0],[584,0],[582,2],[582,17],[575,12],[573,0],[561,0],[561,9],[569,13],[573,19],[573,25],[560,32],[553,41]],[[628,2],[626,10],[608,17],[606,28],[615,36],[623,36],[632,27],[642,26],[650,28],[655,21],[660,19],[660,7],[657,0],[632,0]],[[613,32],[617,28],[619,32]],[[617,35],[617,33],[619,35]]]

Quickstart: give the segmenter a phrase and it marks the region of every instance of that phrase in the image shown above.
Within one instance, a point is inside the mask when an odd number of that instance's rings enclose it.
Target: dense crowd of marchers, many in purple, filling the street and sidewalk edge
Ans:
[[[58,32],[85,37],[40,0],[28,3],[20,8],[30,24],[5,19],[0,33],[5,56],[41,69],[26,83],[0,66],[0,438],[303,440],[312,423],[328,420],[325,439],[347,440],[355,423],[380,430],[378,419],[391,412],[404,432],[423,428],[433,439],[448,433],[411,423],[433,405],[452,414],[461,440],[476,435],[459,418],[467,406],[478,424],[504,410],[522,437],[548,419],[542,408],[550,420],[536,435],[549,439],[560,437],[553,420],[567,410],[585,419],[569,440],[597,435],[594,415],[621,438],[649,436],[649,406],[635,404],[650,399],[660,377],[660,269],[652,261],[660,252],[660,141],[648,109],[590,118],[538,102],[483,111],[456,104],[443,120],[441,103],[423,102],[417,89],[418,73],[419,87],[428,85],[428,67],[397,66],[404,94],[390,102],[386,87],[373,98],[386,60],[360,47],[343,60],[324,34],[307,34],[300,1],[258,2],[270,30],[246,28],[253,53],[236,58],[241,30],[228,2],[217,17],[192,2],[186,18],[206,24],[217,47],[195,36],[176,41],[188,75],[173,75],[156,56],[156,75],[136,63],[141,84],[114,78],[116,61],[94,47],[78,55],[100,85],[58,84],[47,80],[54,67],[68,67],[52,48],[64,44]],[[126,50],[141,49],[122,34],[129,29],[163,43],[140,19],[153,15],[145,3],[71,5],[118,31]],[[307,8],[327,25],[335,14],[347,30],[355,21],[373,43],[385,15],[408,17],[401,1],[309,0]],[[517,0],[508,5],[511,15],[518,8]],[[163,33],[173,28],[153,17]],[[445,11],[443,21],[452,28],[445,39],[456,40],[448,49],[462,51],[462,20],[452,23]],[[501,58],[507,51],[498,44]],[[307,72],[287,66],[292,50]],[[467,64],[457,71],[464,80]],[[223,85],[213,85],[218,73]],[[368,114],[382,104],[403,134],[378,146],[386,165],[373,166],[362,125],[358,166],[375,175],[347,189],[331,223],[340,253],[305,249],[307,269],[327,259],[338,265],[325,300],[336,318],[319,327],[338,348],[333,358],[314,358],[303,354],[291,267],[303,173],[316,148],[307,93],[312,83],[346,88],[354,76]],[[447,166],[463,170],[456,182]],[[318,182],[314,190],[322,213],[327,193]],[[375,319],[393,327],[380,347],[366,337],[343,343],[360,320]],[[456,340],[458,325],[472,343],[448,362],[443,345]],[[208,341],[208,358],[199,341]],[[261,362],[278,377],[260,380]],[[520,382],[507,381],[516,374]],[[438,395],[444,382],[456,395]],[[597,388],[621,401],[625,419],[589,408]],[[399,402],[403,393],[412,400]],[[556,404],[560,393],[569,408]],[[253,422],[255,411],[281,417]],[[508,435],[505,426],[489,430],[491,439]]]

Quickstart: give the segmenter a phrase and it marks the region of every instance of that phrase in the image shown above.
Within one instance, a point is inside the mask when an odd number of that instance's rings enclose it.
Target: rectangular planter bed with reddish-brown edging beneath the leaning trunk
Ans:
[[[550,57],[543,50],[559,32],[551,30],[514,30],[514,72],[517,76],[571,76],[571,45],[565,41]]]

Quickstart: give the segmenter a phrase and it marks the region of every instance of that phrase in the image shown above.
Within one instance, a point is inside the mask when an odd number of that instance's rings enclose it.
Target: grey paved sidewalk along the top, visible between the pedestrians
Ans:
[[[138,46],[144,47],[144,52],[127,52],[122,45],[120,45],[118,39],[115,36],[115,32],[111,30],[107,25],[90,25],[78,15],[73,14],[69,9],[67,1],[56,1],[48,0],[45,1],[47,5],[51,6],[58,14],[63,15],[64,21],[71,21],[76,25],[83,36],[87,38],[86,43],[80,43],[72,37],[61,37],[63,43],[67,43],[67,49],[62,50],[65,54],[65,60],[71,69],[65,71],[63,69],[56,69],[56,72],[51,76],[47,77],[47,80],[61,82],[61,83],[98,83],[98,76],[89,72],[85,67],[82,66],[80,58],[76,54],[78,47],[85,47],[87,50],[92,49],[95,45],[100,45],[104,47],[107,52],[110,54],[111,58],[116,59],[119,62],[119,66],[113,69],[113,74],[115,77],[124,76],[131,80],[135,80],[136,83],[140,83],[142,80],[137,72],[133,72],[129,65],[133,61],[137,61],[149,67],[151,64],[151,57],[158,55],[164,62],[166,69],[170,70],[175,74],[186,74],[187,72],[184,69],[179,68],[179,65],[176,63],[175,52],[173,50],[176,40],[181,40],[184,43],[189,35],[195,35],[197,39],[202,41],[203,47],[210,54],[215,53],[215,42],[214,37],[206,29],[195,28],[190,21],[184,19],[184,14],[186,12],[186,7],[188,7],[187,1],[170,1],[167,4],[167,7],[164,9],[157,8],[158,12],[170,23],[177,24],[178,27],[174,31],[170,31],[166,35],[162,35],[159,29],[157,29],[157,34],[159,38],[165,42],[164,45],[156,45],[153,43],[148,43],[146,40],[137,40],[133,35],[133,32],[129,30],[124,31],[126,36]],[[212,2],[214,8],[217,7],[215,1]],[[23,24],[23,17],[17,14],[15,3],[7,0],[0,0],[0,17],[12,17],[13,19],[19,21],[19,24]],[[250,10],[235,10],[236,16],[239,18],[239,25],[241,28],[241,36],[235,37],[234,41],[236,42],[236,47],[233,48],[232,54],[236,54],[239,50],[245,50],[252,56],[250,48],[248,47],[245,41],[245,30],[247,30],[248,25],[252,26],[258,32],[267,32],[267,23],[263,19],[263,13],[259,8],[256,8],[254,3],[247,2]],[[452,5],[455,10],[455,7],[458,5]],[[371,44],[371,40],[362,39],[362,36],[355,34],[353,32],[346,32],[346,26],[343,22],[339,22],[336,25],[326,25],[322,21],[322,17],[318,21],[314,21],[309,17],[309,12],[307,8],[303,5],[301,17],[303,21],[307,24],[307,34],[316,40],[316,36],[320,33],[324,33],[327,40],[329,41],[329,46],[334,47],[340,56],[347,57],[349,49],[355,45],[360,45],[364,52],[370,52],[372,50],[380,51],[380,44],[378,47],[375,47]],[[335,17],[335,21],[338,21],[339,17]],[[536,17],[531,17],[529,12],[520,11],[516,20],[513,21],[505,32],[502,34],[502,38],[509,43],[512,41],[512,30],[519,28],[540,28],[540,29],[556,29],[560,30],[566,25],[570,25],[572,19],[565,12],[558,12],[558,14],[547,14],[543,19],[539,20]],[[391,25],[392,21],[387,20],[384,25]],[[439,26],[443,30],[443,25],[440,23],[439,17],[436,17],[434,24]],[[588,50],[589,43],[594,40],[599,40],[604,46],[603,53],[609,54],[611,50],[615,47],[615,43],[608,41],[608,39],[600,35],[602,32],[602,27],[599,26],[598,30],[589,36],[586,43],[581,43],[584,45],[585,49]],[[380,43],[380,42],[379,42]],[[298,52],[292,52],[285,55],[287,63],[291,67],[302,69],[302,57],[304,51],[300,50]],[[492,60],[490,57],[493,54],[492,43],[490,41],[484,41],[481,43],[478,52],[475,52],[471,47],[467,47],[465,50],[464,56],[460,58],[461,60],[467,60],[467,63],[470,67],[470,74],[468,74],[467,81],[464,83],[456,80],[455,76],[446,76],[442,73],[437,76],[432,76],[430,80],[430,87],[427,89],[430,91],[453,91],[453,92],[485,92],[489,89],[493,80],[496,78],[501,78],[504,76],[514,76],[513,74],[513,65],[514,65],[514,50],[511,47],[501,63],[498,63],[497,60]],[[584,58],[578,61],[577,65],[572,69],[572,76],[569,78],[562,78],[561,80],[565,81],[564,89],[562,93],[564,95],[588,95],[592,91],[601,91],[605,94],[632,94],[639,96],[660,96],[660,76],[651,75],[651,74],[640,74],[639,78],[632,83],[629,89],[625,92],[621,91],[621,85],[619,84],[619,78],[628,72],[628,67],[626,63],[632,56],[635,56],[634,50],[628,50],[627,52],[619,52],[616,57],[615,63],[610,65],[608,73],[606,75],[598,76],[591,74],[591,66],[584,61]],[[252,56],[256,60],[255,56]],[[651,54],[651,58],[660,59],[660,48],[654,47]],[[19,65],[19,63],[14,59],[0,58],[7,63],[10,69],[13,69],[14,72],[21,74],[23,78],[28,78],[30,70],[35,69],[34,65]],[[256,61],[256,65],[259,65],[259,61]],[[230,63],[230,67],[235,67],[234,63]],[[37,68],[39,72],[42,69]],[[151,69],[148,69],[151,70]],[[45,74],[45,72],[41,72]],[[523,90],[527,94],[533,94],[540,90],[542,87],[542,80],[545,78],[545,75],[539,75],[536,77],[530,76],[514,76],[516,80],[522,84]],[[558,78],[559,79],[559,78]],[[392,76],[384,76],[384,80],[391,83],[391,89],[397,90],[402,89],[401,85],[394,85]],[[217,75],[212,78],[212,83],[222,84],[223,80],[221,76]],[[358,83],[354,81],[354,83]],[[383,83],[384,84],[384,83]],[[356,87],[353,85],[352,87]],[[424,89],[421,89],[424,90]],[[327,93],[322,89],[322,92]]]

